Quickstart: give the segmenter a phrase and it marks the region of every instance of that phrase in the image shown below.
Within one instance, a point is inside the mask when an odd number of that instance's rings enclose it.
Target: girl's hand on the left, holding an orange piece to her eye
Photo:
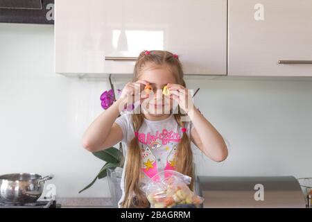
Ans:
[[[126,103],[126,105],[131,105],[140,99],[148,98],[148,94],[146,94],[144,90],[145,85],[148,84],[150,83],[146,80],[137,80],[135,83],[126,83],[121,92],[121,100]]]

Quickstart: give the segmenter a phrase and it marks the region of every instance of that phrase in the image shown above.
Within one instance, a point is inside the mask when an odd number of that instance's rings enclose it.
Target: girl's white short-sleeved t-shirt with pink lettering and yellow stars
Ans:
[[[123,154],[126,156],[128,150],[127,144],[135,137],[132,125],[132,114],[121,114],[121,116],[116,119],[115,123],[117,123],[123,131],[123,139],[121,142],[125,148]],[[191,120],[185,123],[185,128],[187,128],[186,133],[190,137],[190,128],[193,129]],[[141,164],[141,170],[144,171],[144,178],[142,178],[143,184],[162,170],[174,170],[174,157],[177,151],[177,144],[180,142],[181,137],[182,128],[177,121],[175,121],[174,114],[170,114],[166,119],[158,121],[144,118],[144,122],[139,128],[138,135],[143,160]],[[127,159],[125,158],[125,164],[121,176],[122,196],[118,203],[119,208],[121,208],[121,202],[125,195],[124,181],[126,164]]]

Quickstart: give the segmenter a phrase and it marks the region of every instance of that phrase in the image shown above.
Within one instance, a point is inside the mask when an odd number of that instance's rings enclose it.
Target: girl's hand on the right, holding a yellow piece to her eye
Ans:
[[[185,88],[183,85],[173,83],[168,83],[167,88],[172,99],[177,101],[184,112],[188,113],[189,110],[193,109],[193,100],[190,95],[191,90]]]

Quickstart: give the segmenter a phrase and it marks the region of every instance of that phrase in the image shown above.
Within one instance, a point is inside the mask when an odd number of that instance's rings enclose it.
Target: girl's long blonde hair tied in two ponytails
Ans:
[[[137,81],[139,78],[139,72],[144,69],[144,67],[149,63],[152,65],[164,66],[168,68],[171,73],[175,76],[177,84],[186,87],[184,82],[182,64],[177,56],[168,51],[142,51],[137,59],[134,69],[133,82]],[[181,117],[184,114],[180,112],[180,107],[178,107],[178,112],[174,114],[175,120],[183,128],[185,121],[181,121]],[[144,122],[143,113],[133,113],[132,114],[133,128],[135,132],[139,130],[142,123]],[[191,132],[190,132],[191,133]],[[128,144],[127,151],[127,161],[125,166],[125,196],[121,207],[135,207],[144,208],[150,207],[150,203],[146,198],[146,194],[141,190],[140,181],[143,176],[144,171],[141,170],[141,147],[139,146],[138,137],[134,137]],[[184,175],[190,176],[192,178],[189,188],[193,191],[194,184],[194,171],[193,171],[193,153],[191,150],[191,140],[186,132],[183,133],[181,142],[177,145],[177,155],[178,161],[175,162],[175,171],[183,173]]]

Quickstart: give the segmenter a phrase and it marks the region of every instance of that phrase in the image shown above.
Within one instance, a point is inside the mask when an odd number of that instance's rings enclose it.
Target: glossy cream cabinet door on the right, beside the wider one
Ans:
[[[228,3],[229,76],[312,76],[311,0]]]

